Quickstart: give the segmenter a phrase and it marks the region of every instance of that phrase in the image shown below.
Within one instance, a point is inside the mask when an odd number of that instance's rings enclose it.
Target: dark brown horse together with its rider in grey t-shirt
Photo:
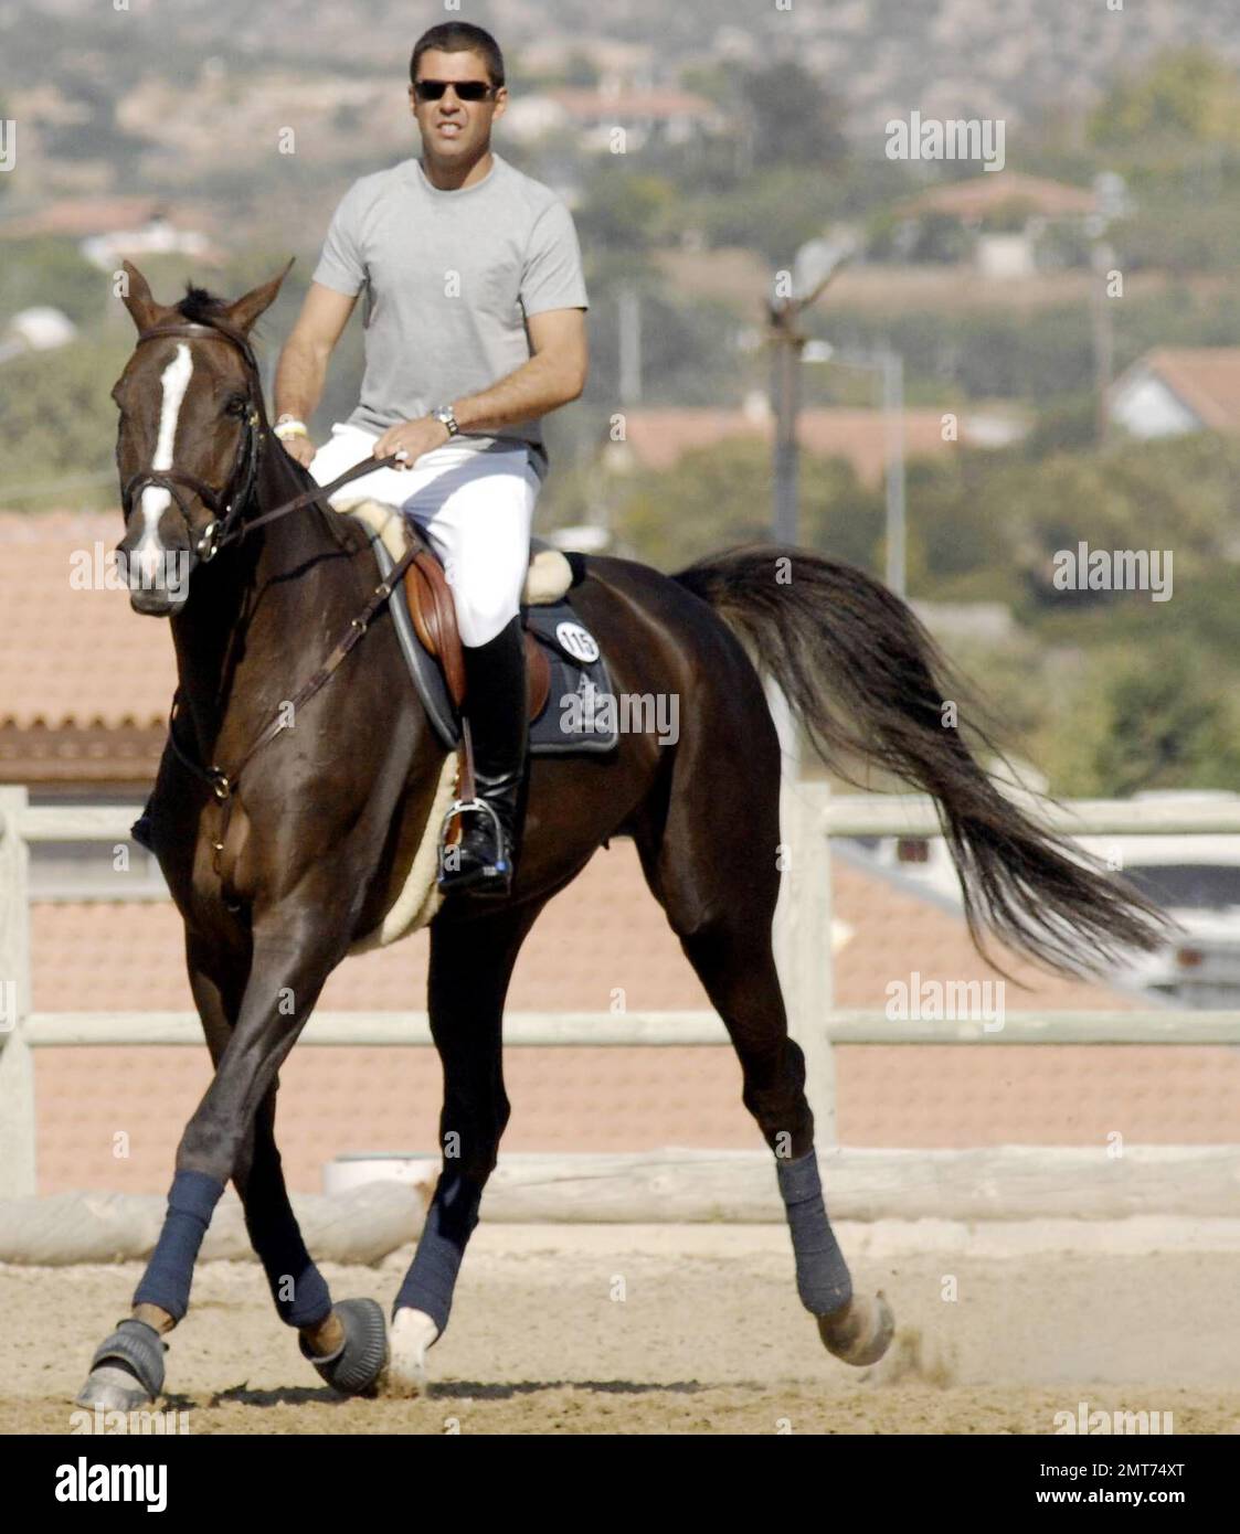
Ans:
[[[232,301],[190,287],[169,305],[126,262],[118,296],[137,341],[112,388],[117,552],[143,575],[130,606],[172,626],[178,687],[152,839],[215,1071],[176,1147],[132,1313],[91,1361],[86,1407],[132,1410],[163,1391],[163,1338],[189,1310],[229,1181],[276,1312],[319,1376],[347,1394],[425,1387],[510,1118],[503,1009],[517,956],[545,905],[625,836],[735,1048],[801,1304],[835,1358],[864,1367],[882,1356],[892,1310],[853,1290],[832,1232],[775,963],[784,856],[813,859],[816,839],[784,844],[764,675],[835,772],[881,770],[933,796],[975,936],[1062,969],[1105,968],[1163,940],[1140,894],[991,778],[978,752],[994,747],[973,709],[942,727],[944,700],[962,692],[912,609],[861,569],[783,546],[706,555],[672,575],[575,558],[572,609],[617,695],[675,698],[680,730],[675,741],[620,730],[606,756],[536,758],[514,871],[526,792],[517,612],[546,468],[537,422],[582,390],[585,290],[568,212],[488,149],[503,66],[485,32],[457,25],[419,41],[413,110],[422,161],[347,193],[281,357],[287,451],[272,446],[249,339],[284,273]],[[304,417],[362,285],[362,400],[313,453]],[[328,976],[397,907],[454,769],[408,687],[385,611],[393,586],[390,575],[376,584],[368,531],[325,505],[345,485],[399,506],[447,561],[483,808],[463,816],[459,864],[444,858],[445,888],[513,887],[511,899],[450,899],[427,917],[442,1158],[390,1328],[374,1299],[333,1299],[275,1134],[281,1066]],[[173,583],[170,568],[187,575]],[[796,1022],[826,1037],[826,1017]]]

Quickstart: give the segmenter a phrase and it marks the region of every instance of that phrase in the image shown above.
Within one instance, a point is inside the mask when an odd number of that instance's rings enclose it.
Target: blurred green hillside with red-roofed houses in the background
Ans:
[[[5,540],[115,506],[121,258],[172,296],[296,255],[270,379],[336,201],[416,152],[416,26],[387,0],[40,15],[0,6]],[[1022,750],[1064,792],[1234,785],[1231,0],[496,0],[479,20],[510,58],[497,147],[569,202],[588,264],[591,380],[551,423],[543,531],[663,566],[766,535],[772,293],[841,244],[804,316],[801,542],[885,569],[898,359],[907,589]],[[1002,167],[890,158],[887,124],[913,114],[1002,121]],[[356,400],[361,354],[355,324],[316,431]],[[1160,615],[1163,675],[1131,660],[1148,606],[1065,606],[1053,557],[1082,540],[1174,549],[1192,600]]]

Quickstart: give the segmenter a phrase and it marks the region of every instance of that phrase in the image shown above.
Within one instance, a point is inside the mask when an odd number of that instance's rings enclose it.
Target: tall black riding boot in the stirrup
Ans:
[[[462,813],[462,838],[439,859],[444,894],[508,894],[525,819],[525,635],[513,618],[485,644],[465,646],[465,713],[483,807]],[[488,813],[491,811],[491,813]]]

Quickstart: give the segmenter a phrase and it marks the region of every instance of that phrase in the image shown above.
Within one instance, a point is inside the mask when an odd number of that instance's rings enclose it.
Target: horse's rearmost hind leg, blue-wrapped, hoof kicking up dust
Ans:
[[[686,767],[677,762],[674,785],[684,781]],[[836,1358],[872,1364],[892,1339],[892,1312],[882,1295],[873,1301],[853,1295],[827,1220],[806,1062],[787,1032],[770,942],[780,891],[778,767],[769,778],[750,775],[743,793],[749,802],[727,804],[721,799],[729,799],[729,790],[677,793],[674,787],[666,824],[638,833],[638,851],[651,890],[727,1028],[741,1065],[744,1106],[775,1152],[801,1302]]]

